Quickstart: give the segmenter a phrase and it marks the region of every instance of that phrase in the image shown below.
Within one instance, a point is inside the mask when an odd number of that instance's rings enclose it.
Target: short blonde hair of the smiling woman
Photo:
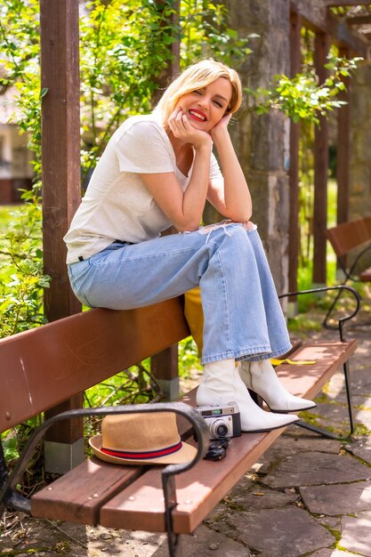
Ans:
[[[237,112],[242,102],[242,85],[235,69],[231,69],[222,62],[212,59],[202,60],[192,64],[165,89],[165,93],[157,103],[155,112],[159,114],[162,124],[167,127],[167,120],[175,109],[179,99],[197,89],[210,85],[219,77],[228,79],[232,86],[232,96],[226,113]]]

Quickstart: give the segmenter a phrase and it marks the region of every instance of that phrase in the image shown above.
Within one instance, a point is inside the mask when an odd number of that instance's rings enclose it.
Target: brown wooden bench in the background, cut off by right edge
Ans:
[[[371,282],[371,267],[362,268],[359,264],[361,258],[369,250],[371,250],[371,216],[357,219],[351,222],[343,222],[338,226],[327,229],[327,239],[333,246],[337,260],[344,273],[343,284],[350,280],[359,280],[361,282]],[[354,253],[355,256],[348,264],[349,255]],[[356,275],[356,270],[358,274]],[[327,311],[324,320],[324,326],[328,326],[328,320],[335,309],[335,305],[340,297],[340,293],[336,295],[334,302]]]

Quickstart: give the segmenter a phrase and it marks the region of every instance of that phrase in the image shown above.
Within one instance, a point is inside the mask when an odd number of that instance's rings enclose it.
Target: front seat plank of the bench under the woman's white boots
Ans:
[[[286,388],[294,394],[314,397],[335,369],[342,365],[356,349],[356,341],[319,342],[307,341],[291,355],[291,359],[316,359],[313,365],[282,364],[278,367],[278,375]],[[195,404],[196,389],[182,398],[184,402]],[[189,429],[180,424],[180,432]],[[176,478],[177,508],[173,512],[173,526],[177,533],[190,533],[203,521],[207,514],[225,496],[240,477],[251,468],[252,464],[270,447],[283,429],[268,433],[244,433],[240,438],[230,442],[228,456],[214,463],[203,460],[192,470]],[[101,464],[101,469],[113,467],[112,464]],[[117,466],[114,466],[117,468]],[[77,485],[78,480],[69,472],[65,478],[70,485]],[[104,474],[102,474],[104,476]],[[60,480],[58,480],[60,481]],[[104,477],[100,480],[101,491],[105,491]],[[99,482],[99,483],[100,483]],[[110,481],[109,481],[110,484]],[[68,485],[68,484],[66,484]],[[60,488],[61,487],[61,488]],[[92,490],[88,493],[91,495]],[[52,494],[52,496],[51,496]],[[69,494],[63,490],[63,484],[52,484],[52,491],[44,488],[36,496],[38,503],[43,502],[43,516],[53,516],[53,505],[58,500],[61,520],[71,520]],[[34,498],[33,497],[33,498]],[[91,501],[84,503],[84,493],[79,496],[78,505],[91,506]],[[32,507],[34,509],[34,507]],[[94,511],[96,513],[96,509]],[[84,509],[79,509],[80,516],[85,516]],[[107,500],[101,506],[102,526],[109,528],[144,529],[164,531],[164,503],[161,487],[161,469],[154,467],[133,481],[124,491]]]

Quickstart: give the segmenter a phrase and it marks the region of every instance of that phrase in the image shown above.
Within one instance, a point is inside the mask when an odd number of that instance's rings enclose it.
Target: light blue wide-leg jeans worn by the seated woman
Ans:
[[[129,310],[200,287],[202,364],[268,359],[291,348],[259,234],[233,222],[152,239],[114,242],[69,265],[71,287],[90,307]]]

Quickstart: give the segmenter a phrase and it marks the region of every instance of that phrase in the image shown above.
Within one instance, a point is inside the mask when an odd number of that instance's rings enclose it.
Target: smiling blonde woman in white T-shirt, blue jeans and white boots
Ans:
[[[90,307],[127,310],[199,286],[197,403],[235,400],[242,430],[265,432],[315,405],[286,392],[270,366],[290,342],[228,131],[241,96],[237,72],[217,61],[176,77],[153,113],[129,117],[113,134],[65,241],[71,287]],[[226,222],[200,228],[206,199]],[[179,234],[160,237],[171,225]]]

